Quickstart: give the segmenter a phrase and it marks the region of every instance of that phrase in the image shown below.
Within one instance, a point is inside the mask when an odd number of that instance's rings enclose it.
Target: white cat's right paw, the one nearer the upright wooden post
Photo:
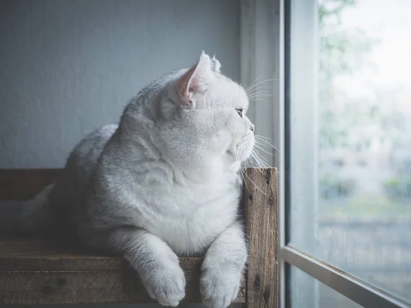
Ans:
[[[241,269],[216,270],[203,268],[200,292],[208,308],[225,308],[236,299],[240,288]]]

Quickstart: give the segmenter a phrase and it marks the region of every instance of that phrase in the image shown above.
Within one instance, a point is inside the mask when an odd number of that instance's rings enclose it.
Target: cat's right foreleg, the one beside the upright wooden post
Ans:
[[[203,304],[225,308],[234,300],[247,261],[247,247],[242,225],[225,229],[212,243],[201,267],[200,291]]]

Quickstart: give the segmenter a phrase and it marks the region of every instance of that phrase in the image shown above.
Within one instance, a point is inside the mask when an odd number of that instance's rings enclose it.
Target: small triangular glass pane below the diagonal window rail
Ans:
[[[295,267],[290,271],[290,304],[291,308],[362,307]]]

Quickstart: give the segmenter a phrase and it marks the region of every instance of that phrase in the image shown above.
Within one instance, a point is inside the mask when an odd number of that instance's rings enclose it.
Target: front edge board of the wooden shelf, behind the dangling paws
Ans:
[[[200,303],[200,271],[184,271],[184,302]],[[236,302],[245,301],[245,279]],[[155,303],[131,268],[99,271],[0,271],[0,305]]]

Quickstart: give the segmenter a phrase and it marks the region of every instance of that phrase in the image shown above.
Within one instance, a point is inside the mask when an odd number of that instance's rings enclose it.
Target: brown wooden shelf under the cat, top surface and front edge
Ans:
[[[200,303],[201,257],[182,257],[185,302]],[[245,277],[236,299],[245,302]],[[0,238],[0,305],[154,303],[121,257],[94,255],[53,240]]]

